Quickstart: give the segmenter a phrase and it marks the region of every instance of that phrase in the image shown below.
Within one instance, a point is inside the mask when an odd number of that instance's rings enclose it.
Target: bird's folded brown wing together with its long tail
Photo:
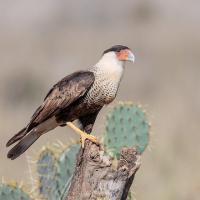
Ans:
[[[35,111],[30,123],[13,138],[7,146],[20,140],[9,152],[8,158],[15,159],[24,153],[42,134],[58,126],[54,117],[62,109],[83,97],[95,80],[89,71],[75,72],[55,84],[48,92],[43,104]]]

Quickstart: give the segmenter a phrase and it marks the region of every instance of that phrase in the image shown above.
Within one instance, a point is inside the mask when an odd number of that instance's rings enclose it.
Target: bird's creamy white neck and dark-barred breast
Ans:
[[[108,104],[114,100],[124,71],[124,63],[116,59],[113,52],[105,54],[89,71],[94,73],[95,81],[86,99],[96,104]]]

